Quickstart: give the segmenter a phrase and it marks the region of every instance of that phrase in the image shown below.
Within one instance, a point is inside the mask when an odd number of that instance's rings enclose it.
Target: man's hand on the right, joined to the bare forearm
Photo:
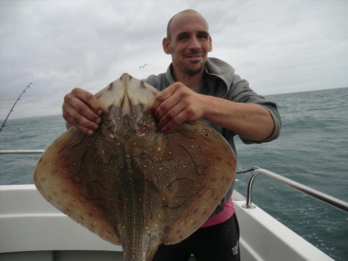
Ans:
[[[160,92],[151,106],[163,131],[175,128],[185,121],[203,118],[204,95],[193,92],[181,82],[175,82]]]

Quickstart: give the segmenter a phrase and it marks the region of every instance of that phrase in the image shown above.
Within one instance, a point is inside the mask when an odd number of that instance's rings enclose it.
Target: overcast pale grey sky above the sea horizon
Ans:
[[[30,82],[10,119],[61,114],[75,87],[165,72],[162,39],[184,9],[208,21],[208,56],[259,94],[348,87],[348,1],[0,0],[0,122]]]

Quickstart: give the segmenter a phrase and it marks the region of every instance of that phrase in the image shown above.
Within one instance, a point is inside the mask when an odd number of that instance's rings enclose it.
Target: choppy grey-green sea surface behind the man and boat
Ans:
[[[267,97],[282,117],[280,137],[252,145],[235,137],[238,170],[256,165],[348,202],[348,88]],[[65,130],[60,115],[9,119],[0,149],[45,149]],[[33,184],[38,158],[0,155],[0,184]],[[249,176],[236,177],[244,195]],[[333,259],[348,260],[347,213],[264,176],[252,202]]]

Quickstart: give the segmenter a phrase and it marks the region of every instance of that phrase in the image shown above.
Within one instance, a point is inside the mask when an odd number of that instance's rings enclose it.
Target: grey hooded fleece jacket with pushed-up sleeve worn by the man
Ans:
[[[240,76],[234,74],[234,69],[228,63],[217,58],[209,57],[206,61],[204,79],[205,82],[200,84],[200,90],[198,91],[200,94],[210,95],[233,102],[257,103],[264,106],[270,112],[274,122],[274,131],[272,135],[262,141],[246,140],[240,137],[244,143],[262,143],[274,140],[279,136],[281,121],[276,104],[253,92],[249,88],[249,83],[246,80],[241,79]],[[172,64],[169,65],[166,73],[162,73],[157,76],[150,75],[144,81],[154,86],[157,90],[163,91],[170,84],[175,82],[173,78]],[[200,121],[216,129],[217,132],[219,132],[230,144],[234,155],[237,155],[233,141],[233,137],[236,134],[231,132],[229,129],[223,128],[205,119],[201,119]],[[222,205],[225,204],[225,202],[231,197],[233,186],[234,180],[228,188],[224,198],[221,200],[220,204],[216,206],[210,217],[223,210]]]

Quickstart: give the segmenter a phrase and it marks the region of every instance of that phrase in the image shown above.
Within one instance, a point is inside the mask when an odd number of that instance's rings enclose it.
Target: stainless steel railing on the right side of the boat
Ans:
[[[254,205],[251,204],[251,189],[252,185],[254,183],[255,178],[262,174],[268,178],[271,178],[273,180],[276,180],[284,185],[287,185],[289,187],[292,187],[294,189],[297,189],[298,191],[305,193],[307,195],[310,195],[311,197],[318,199],[324,203],[327,203],[331,206],[334,206],[338,209],[341,209],[345,212],[348,212],[348,203],[344,202],[343,200],[336,199],[332,197],[331,195],[325,194],[323,192],[320,192],[316,189],[313,189],[311,187],[308,187],[306,185],[303,185],[301,183],[298,183],[296,181],[290,180],[288,178],[282,177],[276,173],[273,173],[267,169],[262,169],[256,166],[253,166],[254,171],[251,173],[248,184],[247,184],[247,199],[246,204],[243,204],[242,207],[244,208],[255,208]]]

